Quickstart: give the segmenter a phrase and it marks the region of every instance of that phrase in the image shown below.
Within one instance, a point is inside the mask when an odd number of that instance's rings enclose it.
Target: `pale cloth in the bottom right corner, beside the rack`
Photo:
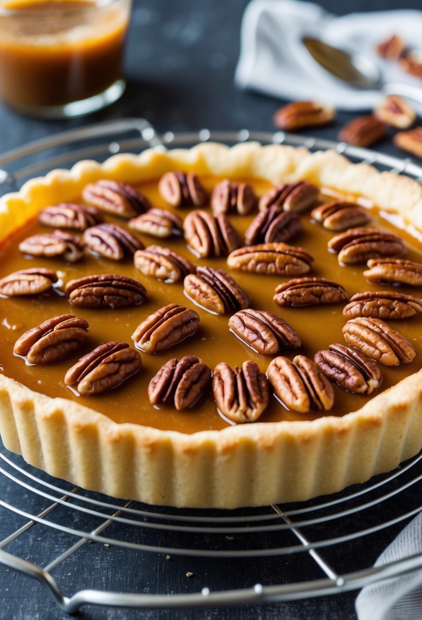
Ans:
[[[382,552],[375,566],[422,553],[422,513]],[[356,598],[359,620],[420,620],[422,569],[363,588]]]

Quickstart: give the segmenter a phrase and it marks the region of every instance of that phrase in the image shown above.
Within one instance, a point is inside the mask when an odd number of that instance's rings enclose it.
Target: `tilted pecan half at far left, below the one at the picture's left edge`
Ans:
[[[88,337],[88,323],[73,314],[62,314],[44,321],[22,334],[15,342],[15,355],[29,364],[47,364],[71,353]]]

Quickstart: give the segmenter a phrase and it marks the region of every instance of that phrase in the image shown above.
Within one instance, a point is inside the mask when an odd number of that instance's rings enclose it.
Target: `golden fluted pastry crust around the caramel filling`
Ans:
[[[351,164],[334,151],[200,144],[119,154],[53,170],[0,198],[0,241],[48,203],[72,201],[103,177],[137,184],[169,170],[273,184],[306,179],[359,195],[422,232],[422,187]],[[422,371],[361,409],[312,422],[238,425],[187,435],[123,423],[0,374],[0,434],[35,467],[114,497],[176,507],[236,508],[306,500],[394,469],[422,448]]]

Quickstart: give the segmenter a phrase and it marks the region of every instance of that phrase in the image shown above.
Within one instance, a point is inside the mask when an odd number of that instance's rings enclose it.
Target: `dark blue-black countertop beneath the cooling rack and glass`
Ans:
[[[327,8],[347,13],[375,9],[403,8],[398,0],[332,0],[321,2]],[[212,9],[210,8],[212,6]],[[209,128],[215,130],[272,131],[272,115],[280,101],[251,92],[237,91],[233,86],[233,71],[239,51],[239,25],[246,2],[244,0],[135,0],[127,55],[127,91],[123,99],[107,110],[82,119],[66,122],[41,122],[24,119],[0,107],[0,153],[25,144],[32,139],[75,128],[87,123],[125,116],[147,118],[158,131],[186,131]],[[420,8],[420,0],[408,0],[405,7]],[[313,131],[317,136],[334,138],[338,128],[353,115],[339,113],[337,122],[330,128]],[[310,133],[310,132],[309,132]],[[389,140],[379,149],[402,155]],[[14,501],[16,487],[0,475],[0,498]],[[28,496],[31,500],[30,495]],[[22,497],[25,498],[25,492]],[[410,502],[410,495],[403,497],[403,506]],[[29,503],[27,505],[30,506]],[[40,504],[40,506],[46,505]],[[32,507],[37,510],[37,507]],[[22,520],[0,507],[0,540],[21,525]],[[356,515],[356,528],[368,524],[364,516]],[[334,529],[337,526],[334,525]],[[359,567],[372,564],[382,549],[390,542],[402,525],[383,530],[369,538],[358,539],[335,550],[327,549],[325,558],[337,564],[342,572],[353,572]],[[50,561],[62,547],[45,528],[38,526],[33,534],[33,544],[40,546],[41,565]],[[19,544],[21,546],[19,547]],[[25,556],[25,542],[14,547],[17,554]],[[32,551],[32,550],[31,550]],[[62,574],[83,573],[87,564],[84,553],[75,554],[66,561]],[[227,560],[221,562],[206,559],[174,558],[167,562],[157,554],[147,557],[107,557],[106,550],[92,555],[90,572],[98,587],[113,588],[108,576],[117,572],[127,584],[128,591],[139,590],[144,583],[145,591],[183,591],[186,587],[186,571],[194,573],[189,591],[200,590],[204,585],[213,589],[239,587],[241,583],[277,583],[295,579],[308,570],[307,556],[300,559],[286,556],[282,560],[257,558],[254,560]],[[110,565],[113,562],[113,565]],[[309,562],[310,563],[310,562]],[[288,575],[288,576],[287,576]],[[309,568],[309,576],[312,570]],[[322,576],[322,575],[318,575]],[[83,575],[82,575],[83,577]],[[91,582],[90,582],[91,583]],[[192,584],[192,586],[191,586]],[[84,587],[83,578],[82,586]],[[88,586],[89,587],[89,586]],[[142,588],[141,588],[142,589]],[[66,594],[72,594],[69,592]],[[76,617],[81,619],[117,620],[121,618],[355,618],[356,592],[337,596],[314,598],[304,601],[261,604],[239,608],[203,609],[187,611],[134,611],[87,606]],[[29,578],[4,569],[0,565],[0,620],[46,620],[64,619],[66,614],[56,608],[41,586]]]

